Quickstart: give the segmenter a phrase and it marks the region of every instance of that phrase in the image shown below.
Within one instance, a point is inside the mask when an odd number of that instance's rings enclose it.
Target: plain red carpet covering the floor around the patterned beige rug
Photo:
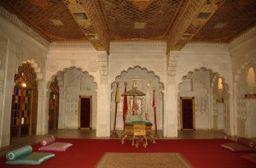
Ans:
[[[241,154],[233,153],[219,145],[230,143],[229,139],[168,139],[156,140],[156,143],[148,142],[148,147],[131,146],[131,141],[126,140],[121,144],[120,140],[114,139],[72,139],[57,138],[56,142],[73,143],[66,152],[52,152],[55,157],[47,160],[42,165],[5,165],[5,156],[0,158],[0,167],[94,167],[105,152],[121,153],[180,153],[195,168],[250,168],[255,164],[242,159]],[[38,152],[40,144],[32,146],[33,152]]]

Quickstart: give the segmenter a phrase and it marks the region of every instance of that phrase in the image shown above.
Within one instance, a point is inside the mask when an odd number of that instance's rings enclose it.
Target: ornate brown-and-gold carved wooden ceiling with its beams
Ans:
[[[188,42],[230,42],[256,23],[255,0],[8,0],[49,42],[165,41],[168,53]]]

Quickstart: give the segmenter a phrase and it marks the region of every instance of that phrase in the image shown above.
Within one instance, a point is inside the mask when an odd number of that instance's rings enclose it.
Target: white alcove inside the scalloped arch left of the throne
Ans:
[[[80,98],[91,98],[90,128],[96,129],[97,85],[94,81],[94,77],[90,76],[88,72],[83,71],[80,68],[70,67],[57,72],[57,74],[52,77],[51,83],[54,83],[55,79],[58,82],[60,100],[58,128],[83,128],[84,126],[80,126],[84,120],[81,120]]]

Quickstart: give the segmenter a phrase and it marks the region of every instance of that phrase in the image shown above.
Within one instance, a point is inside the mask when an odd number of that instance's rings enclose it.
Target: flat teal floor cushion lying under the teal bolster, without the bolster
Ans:
[[[33,152],[32,154],[23,156],[18,160],[8,160],[5,163],[8,165],[40,165],[54,156],[55,154]]]

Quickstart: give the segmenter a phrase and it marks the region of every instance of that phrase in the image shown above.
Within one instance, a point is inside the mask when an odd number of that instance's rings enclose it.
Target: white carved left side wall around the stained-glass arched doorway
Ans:
[[[30,62],[37,74],[38,91],[44,89],[42,88],[42,81],[44,81],[43,74],[48,48],[47,42],[41,36],[2,7],[0,7],[0,22],[0,74],[2,74],[0,83],[3,84],[0,98],[0,147],[3,147],[9,144],[11,95],[15,87],[14,76],[18,66],[24,61]],[[16,26],[11,22],[14,22]],[[32,38],[32,36],[27,36],[27,33],[37,37]],[[38,114],[42,112],[40,111],[40,103],[43,102],[43,99],[43,97],[38,98]],[[38,116],[39,127],[43,123],[40,119],[42,118]]]

